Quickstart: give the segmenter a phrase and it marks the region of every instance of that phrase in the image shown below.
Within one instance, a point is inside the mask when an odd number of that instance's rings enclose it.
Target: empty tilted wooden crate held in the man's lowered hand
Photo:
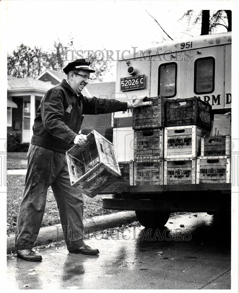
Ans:
[[[121,176],[113,144],[97,131],[87,135],[87,142],[66,152],[71,185],[77,184],[90,197]]]

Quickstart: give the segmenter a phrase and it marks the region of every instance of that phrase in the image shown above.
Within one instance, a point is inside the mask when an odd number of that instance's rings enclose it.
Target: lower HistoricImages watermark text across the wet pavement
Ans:
[[[192,239],[191,229],[176,229],[175,233],[172,233],[171,230],[167,229],[142,229],[139,231],[136,227],[125,228],[115,230],[113,233],[110,233],[107,230],[103,229],[87,229],[83,231],[81,229],[69,229],[68,226],[64,226],[63,230],[60,229],[60,226],[56,226],[56,240],[65,239],[65,234],[68,235],[68,240],[81,240],[85,236],[90,236],[96,240],[102,239],[112,239],[112,240],[147,240],[147,241],[190,241]]]

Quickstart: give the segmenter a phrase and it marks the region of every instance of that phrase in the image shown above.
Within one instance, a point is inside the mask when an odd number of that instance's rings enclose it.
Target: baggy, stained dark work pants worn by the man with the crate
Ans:
[[[68,250],[83,241],[83,195],[71,186],[66,155],[30,144],[27,154],[25,190],[18,212],[15,247],[32,248],[42,223],[51,186],[59,209],[61,226]]]

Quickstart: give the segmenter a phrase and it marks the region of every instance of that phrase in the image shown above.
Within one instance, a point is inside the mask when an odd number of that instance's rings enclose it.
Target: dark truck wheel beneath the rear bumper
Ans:
[[[135,211],[136,217],[142,226],[147,229],[163,227],[171,214],[169,211]]]

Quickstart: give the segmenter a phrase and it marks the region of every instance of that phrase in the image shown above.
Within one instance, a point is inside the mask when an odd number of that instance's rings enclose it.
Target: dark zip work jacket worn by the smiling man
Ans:
[[[83,114],[97,115],[125,111],[126,102],[87,98],[75,94],[65,79],[46,92],[37,110],[31,143],[66,152],[80,131]]]

